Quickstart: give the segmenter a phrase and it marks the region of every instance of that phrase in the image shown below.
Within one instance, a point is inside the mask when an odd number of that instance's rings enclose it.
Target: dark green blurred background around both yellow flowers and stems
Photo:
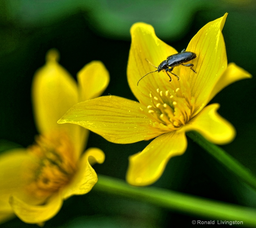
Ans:
[[[135,100],[127,83],[126,67],[129,28],[136,21],[153,24],[159,38],[181,51],[206,23],[228,12],[223,29],[228,62],[256,75],[255,4],[250,1],[242,5],[203,0],[184,0],[180,4],[171,0],[52,2],[6,0],[0,4],[1,150],[4,144],[11,147],[10,142],[27,147],[34,141],[37,131],[30,101],[31,81],[51,48],[60,51],[60,64],[75,78],[86,63],[101,60],[110,73],[103,95]],[[255,80],[253,77],[233,83],[211,103],[220,103],[219,113],[237,131],[235,140],[222,148],[256,175]],[[106,154],[106,161],[94,166],[97,173],[124,179],[128,156],[148,143],[112,144],[90,133],[87,146],[99,147]],[[190,139],[186,153],[172,158],[154,185],[256,207],[256,194]],[[91,191],[66,200],[58,215],[44,227],[196,227],[191,221],[198,219],[204,218]],[[15,218],[1,227],[37,226]]]

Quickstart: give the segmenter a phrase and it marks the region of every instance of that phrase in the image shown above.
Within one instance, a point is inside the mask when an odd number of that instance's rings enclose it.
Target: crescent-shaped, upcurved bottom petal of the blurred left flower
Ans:
[[[42,223],[55,216],[61,206],[62,198],[60,194],[53,195],[45,205],[29,205],[15,196],[10,197],[10,204],[14,213],[25,223]]]

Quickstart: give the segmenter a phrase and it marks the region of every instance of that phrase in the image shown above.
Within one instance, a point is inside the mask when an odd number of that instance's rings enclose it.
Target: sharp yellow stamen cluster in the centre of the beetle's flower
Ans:
[[[185,125],[195,109],[195,98],[189,94],[184,88],[151,91],[147,115],[152,120],[153,127],[168,132]]]

